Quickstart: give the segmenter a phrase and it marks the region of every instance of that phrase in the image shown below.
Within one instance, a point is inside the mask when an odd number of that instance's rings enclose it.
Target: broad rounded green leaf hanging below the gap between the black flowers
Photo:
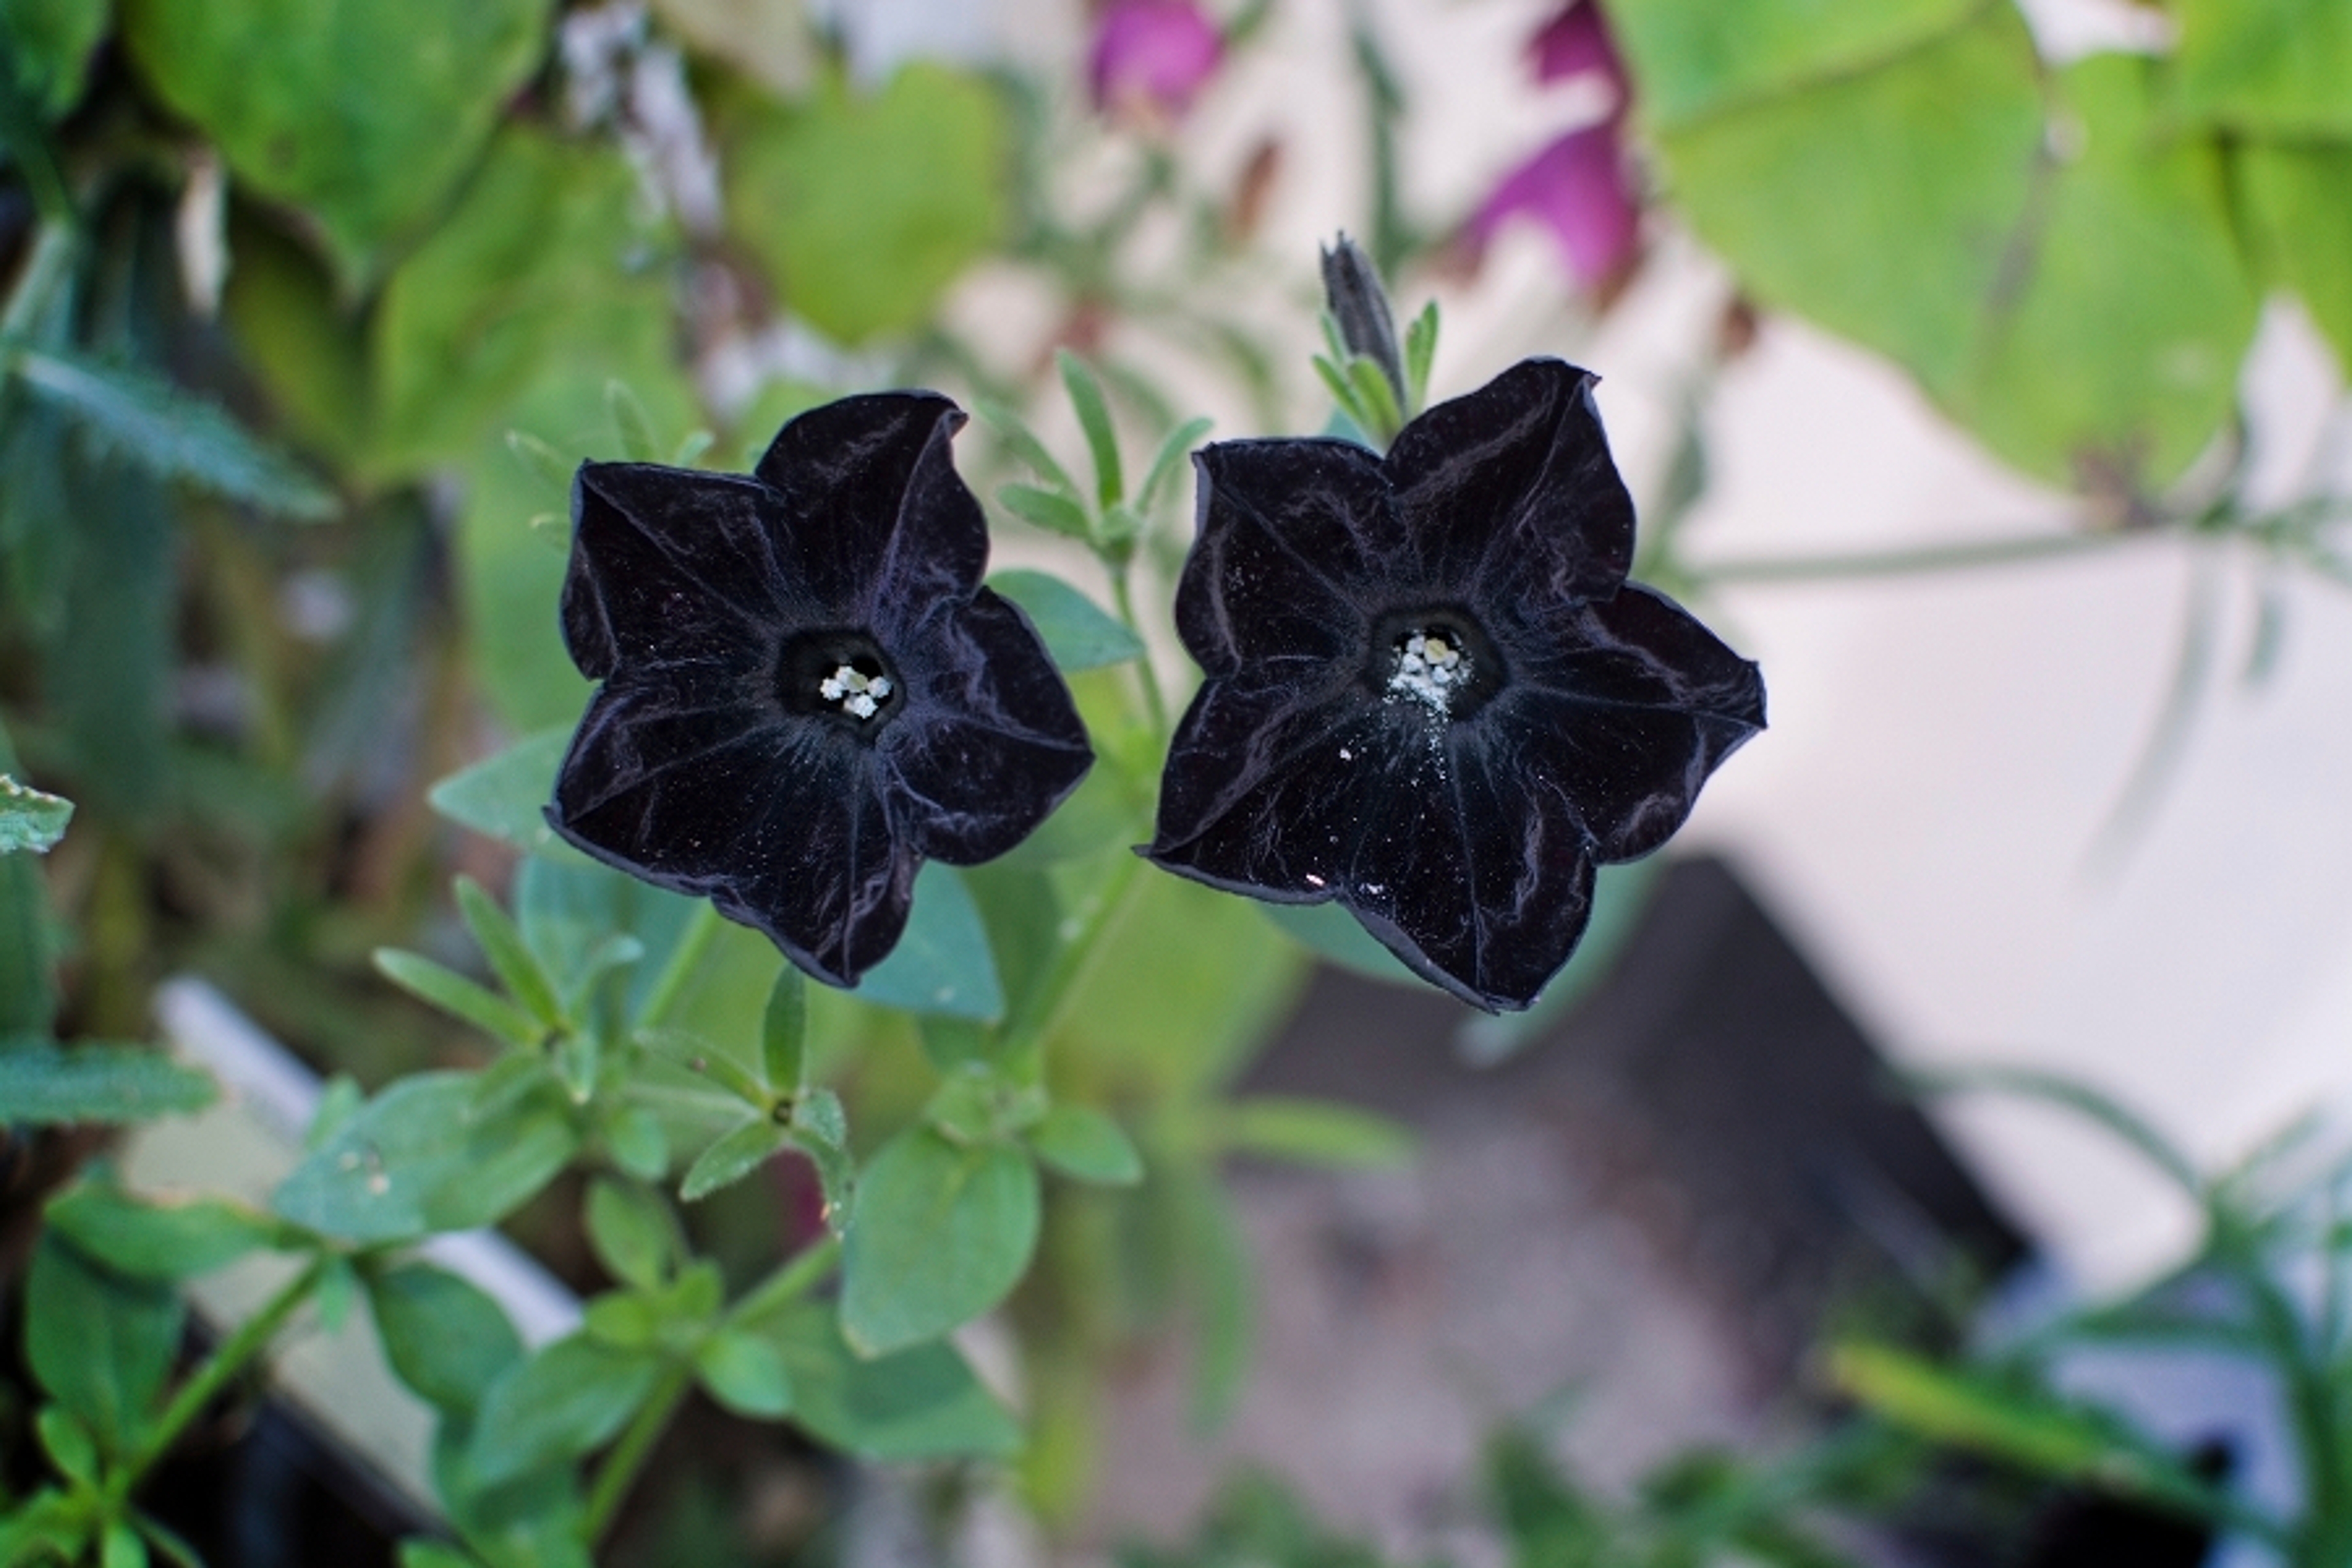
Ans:
[[[995,1307],[1037,1248],[1037,1166],[1011,1145],[913,1126],[868,1161],[842,1253],[842,1333],[861,1354],[934,1340]]]

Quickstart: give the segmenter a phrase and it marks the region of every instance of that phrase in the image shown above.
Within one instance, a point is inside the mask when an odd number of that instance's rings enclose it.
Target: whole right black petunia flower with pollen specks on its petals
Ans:
[[[1632,498],[1592,376],[1526,360],[1409,423],[1195,456],[1176,630],[1209,675],[1143,851],[1272,903],[1336,898],[1416,973],[1524,1009],[1592,867],[1665,844],[1764,726],[1764,682],[1625,581]]]

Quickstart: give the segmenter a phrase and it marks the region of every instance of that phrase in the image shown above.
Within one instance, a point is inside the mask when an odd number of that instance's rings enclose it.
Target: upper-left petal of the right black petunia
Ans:
[[[1355,442],[1216,442],[1200,534],[1176,583],[1176,635],[1211,675],[1244,661],[1334,658],[1404,536],[1381,461]]]

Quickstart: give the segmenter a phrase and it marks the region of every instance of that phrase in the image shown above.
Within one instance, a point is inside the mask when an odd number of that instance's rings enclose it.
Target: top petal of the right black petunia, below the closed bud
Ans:
[[[1397,433],[1388,477],[1428,583],[1482,599],[1606,597],[1632,567],[1632,496],[1592,371],[1522,360]]]

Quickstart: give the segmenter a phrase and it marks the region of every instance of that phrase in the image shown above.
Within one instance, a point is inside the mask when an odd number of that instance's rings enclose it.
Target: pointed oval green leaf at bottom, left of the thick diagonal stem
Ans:
[[[576,1460],[616,1434],[661,1378],[661,1356],[572,1333],[506,1368],[466,1443],[477,1486]]]

